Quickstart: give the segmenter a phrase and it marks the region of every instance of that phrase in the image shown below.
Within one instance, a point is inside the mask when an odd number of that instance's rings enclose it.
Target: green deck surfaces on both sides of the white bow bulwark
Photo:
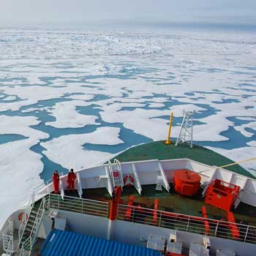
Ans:
[[[148,159],[164,160],[188,158],[211,166],[222,166],[233,163],[233,161],[227,157],[223,157],[221,154],[217,154],[216,152],[202,146],[194,145],[193,148],[189,148],[187,144],[175,146],[174,142],[170,145],[165,145],[164,141],[146,143],[129,148],[127,151],[122,152],[115,158],[120,162]],[[234,173],[239,173],[249,178],[255,178],[240,165],[233,165],[225,168],[233,171]],[[170,192],[167,192],[165,189],[157,191],[156,184],[152,184],[142,186],[142,193],[139,195],[134,187],[123,187],[121,202],[127,204],[129,196],[134,195],[135,206],[140,205],[144,208],[154,208],[154,200],[157,198],[159,200],[158,209],[160,211],[170,211],[177,214],[203,217],[201,208],[202,206],[206,206],[208,218],[217,220],[226,219],[226,211],[206,204],[204,202],[204,198],[201,196],[201,192],[202,190],[194,197],[184,197],[175,192],[172,184],[170,184]],[[86,189],[83,195],[85,195],[85,198],[92,200],[111,200],[106,189]],[[245,203],[240,203],[238,208],[233,209],[233,214],[237,223],[256,226],[255,207],[246,205]]]

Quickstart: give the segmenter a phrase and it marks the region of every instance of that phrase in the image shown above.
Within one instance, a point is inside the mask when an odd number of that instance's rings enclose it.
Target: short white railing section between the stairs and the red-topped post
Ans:
[[[62,199],[61,195],[54,194],[49,194],[46,198],[47,201],[45,206],[48,208],[108,218],[107,202],[69,197],[66,195],[64,196],[64,199]]]

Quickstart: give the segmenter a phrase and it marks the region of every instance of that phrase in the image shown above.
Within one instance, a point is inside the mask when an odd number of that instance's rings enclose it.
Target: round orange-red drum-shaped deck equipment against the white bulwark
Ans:
[[[181,195],[191,197],[197,194],[201,177],[192,170],[176,170],[174,173],[174,188]]]

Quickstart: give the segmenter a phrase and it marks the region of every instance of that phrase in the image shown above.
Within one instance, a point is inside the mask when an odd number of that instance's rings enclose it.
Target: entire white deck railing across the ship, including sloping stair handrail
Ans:
[[[110,203],[108,202],[70,196],[64,196],[64,198],[62,198],[61,195],[55,194],[45,195],[42,200],[44,201],[43,207],[46,211],[56,209],[80,214],[89,214],[97,217],[109,217]],[[37,219],[39,219],[40,222],[42,211],[40,211],[39,214],[40,216]],[[116,219],[256,244],[256,227],[252,225],[225,222],[217,219],[206,219],[203,217],[176,214],[123,204],[118,205]],[[34,225],[34,227],[37,228],[34,228],[34,232],[32,233],[33,236],[30,236],[23,243],[23,254],[20,255],[30,255],[39,222]]]

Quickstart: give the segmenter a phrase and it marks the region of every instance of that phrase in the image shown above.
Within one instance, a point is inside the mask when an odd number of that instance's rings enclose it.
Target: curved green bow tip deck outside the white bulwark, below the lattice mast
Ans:
[[[188,158],[197,162],[203,162],[206,165],[215,165],[219,167],[233,163],[233,161],[227,157],[223,157],[221,154],[202,146],[194,145],[193,148],[189,148],[187,144],[175,146],[175,142],[170,145],[165,145],[164,141],[156,141],[129,148],[127,151],[118,154],[115,158],[120,162]],[[255,178],[240,165],[233,165],[225,168],[234,173],[239,173],[249,178]]]

